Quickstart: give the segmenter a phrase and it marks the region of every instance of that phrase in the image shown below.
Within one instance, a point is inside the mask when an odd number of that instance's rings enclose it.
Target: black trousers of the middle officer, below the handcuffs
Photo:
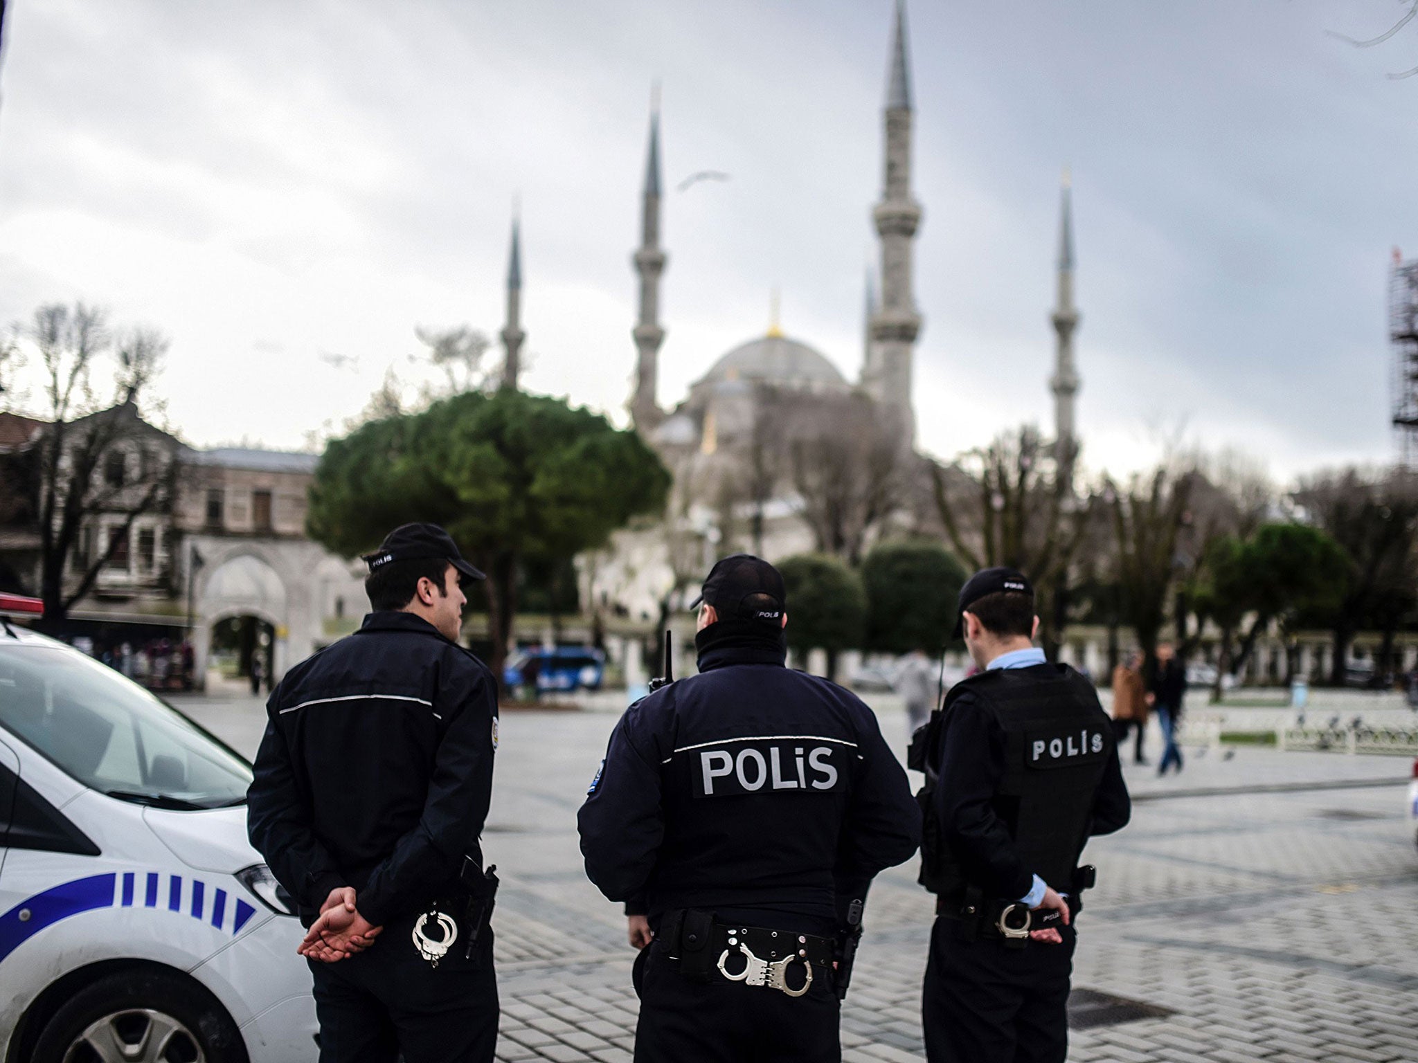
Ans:
[[[718,969],[696,982],[652,944],[635,958],[635,1063],[838,1063],[841,1002],[831,978],[815,975],[803,996],[730,982]]]

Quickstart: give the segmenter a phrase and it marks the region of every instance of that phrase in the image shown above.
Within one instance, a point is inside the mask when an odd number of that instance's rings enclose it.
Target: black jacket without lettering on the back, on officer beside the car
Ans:
[[[286,673],[267,702],[248,831],[302,916],[353,886],[383,926],[455,893],[465,855],[482,863],[496,689],[408,612],[372,612]]]

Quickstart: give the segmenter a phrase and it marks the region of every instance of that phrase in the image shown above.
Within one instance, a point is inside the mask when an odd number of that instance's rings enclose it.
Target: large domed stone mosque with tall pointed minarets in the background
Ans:
[[[725,353],[689,386],[679,403],[664,408],[657,394],[659,349],[666,333],[659,316],[659,291],[669,257],[659,240],[664,181],[659,115],[652,109],[641,189],[640,247],[632,255],[638,278],[638,317],[631,333],[635,369],[627,408],[635,429],[674,473],[675,490],[671,513],[662,524],[621,532],[603,556],[583,558],[583,601],[587,605],[649,619],[657,612],[664,614],[691,574],[702,574],[715,556],[730,549],[752,549],[770,560],[821,549],[821,541],[815,541],[814,532],[801,519],[801,493],[781,471],[773,473],[769,483],[759,485],[766,495],[757,499],[753,536],[730,530],[735,523],[732,510],[735,506],[742,509],[744,499],[742,492],[732,497],[733,492],[726,492],[726,485],[744,479],[744,468],[754,462],[753,448],[760,427],[764,420],[783,420],[784,408],[793,411],[795,427],[790,431],[807,432],[808,446],[830,441],[834,432],[839,432],[845,410],[854,408],[856,421],[864,420],[865,411],[872,432],[881,435],[899,456],[898,468],[909,466],[917,478],[923,472],[922,458],[916,454],[912,408],[915,349],[922,329],[912,283],[913,247],[923,214],[912,190],[913,122],[905,0],[896,0],[883,106],[882,196],[871,211],[878,262],[875,275],[868,276],[866,329],[858,380],[844,377],[832,360],[810,343],[784,336],[774,320],[767,334]],[[513,230],[508,325],[501,333],[506,347],[505,383],[512,386],[516,384],[519,347],[525,337],[519,316],[520,282]],[[1078,452],[1073,417],[1081,383],[1073,361],[1078,322],[1065,180],[1058,303],[1052,313],[1056,357],[1049,381],[1055,398],[1055,448],[1065,483],[1072,482]],[[766,410],[766,404],[773,407]],[[666,588],[671,590],[666,592]]]

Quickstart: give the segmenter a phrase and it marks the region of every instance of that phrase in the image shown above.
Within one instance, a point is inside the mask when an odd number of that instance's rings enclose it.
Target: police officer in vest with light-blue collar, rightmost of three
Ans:
[[[1012,568],[960,591],[978,673],[916,734],[926,771],[922,883],[937,894],[922,994],[930,1063],[1064,1063],[1090,835],[1130,802],[1098,693],[1034,648],[1034,588]]]

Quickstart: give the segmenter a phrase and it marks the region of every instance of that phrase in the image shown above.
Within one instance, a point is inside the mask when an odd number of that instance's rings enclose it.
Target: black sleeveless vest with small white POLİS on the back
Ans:
[[[1088,842],[1093,795],[1112,755],[1112,724],[1093,685],[1068,665],[994,669],[956,683],[930,723],[916,733],[910,767],[926,772],[916,795],[925,816],[920,884],[956,897],[971,883],[944,842],[934,789],[940,743],[950,710],[970,692],[1005,736],[1004,775],[994,811],[1024,865],[1056,890],[1069,889]],[[987,751],[981,750],[981,755]]]

